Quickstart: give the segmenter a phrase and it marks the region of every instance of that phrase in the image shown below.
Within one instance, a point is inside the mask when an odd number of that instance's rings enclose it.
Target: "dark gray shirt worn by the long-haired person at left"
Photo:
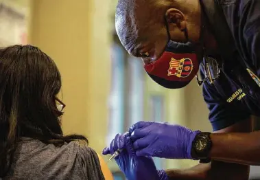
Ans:
[[[0,178],[1,179],[1,178]],[[97,153],[80,141],[56,147],[36,139],[22,138],[14,155],[9,179],[103,180]]]

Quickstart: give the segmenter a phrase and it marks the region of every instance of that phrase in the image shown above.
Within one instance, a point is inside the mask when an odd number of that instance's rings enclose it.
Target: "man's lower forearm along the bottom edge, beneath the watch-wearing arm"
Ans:
[[[247,180],[249,166],[212,161],[185,170],[165,170],[169,180]]]

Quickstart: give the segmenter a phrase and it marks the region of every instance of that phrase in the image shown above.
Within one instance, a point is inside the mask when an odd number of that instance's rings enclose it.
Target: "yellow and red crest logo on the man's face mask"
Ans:
[[[192,61],[190,58],[182,58],[176,60],[172,58],[169,62],[168,76],[177,76],[178,78],[186,78],[193,70]]]

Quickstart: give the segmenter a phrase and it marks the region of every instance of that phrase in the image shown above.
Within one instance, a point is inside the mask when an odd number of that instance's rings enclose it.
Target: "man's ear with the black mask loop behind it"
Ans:
[[[181,31],[186,29],[185,16],[180,10],[177,10],[175,8],[167,10],[167,12],[165,13],[165,19],[170,29],[172,25],[178,27]]]

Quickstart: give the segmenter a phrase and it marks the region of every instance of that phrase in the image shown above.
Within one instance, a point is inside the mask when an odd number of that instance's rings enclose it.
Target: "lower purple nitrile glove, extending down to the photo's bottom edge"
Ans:
[[[103,155],[113,155],[115,150],[123,149],[121,153],[115,158],[117,165],[124,175],[129,180],[167,180],[166,172],[163,170],[156,170],[152,157],[137,157],[130,134],[116,135],[115,139],[110,143],[110,146],[104,148]]]

